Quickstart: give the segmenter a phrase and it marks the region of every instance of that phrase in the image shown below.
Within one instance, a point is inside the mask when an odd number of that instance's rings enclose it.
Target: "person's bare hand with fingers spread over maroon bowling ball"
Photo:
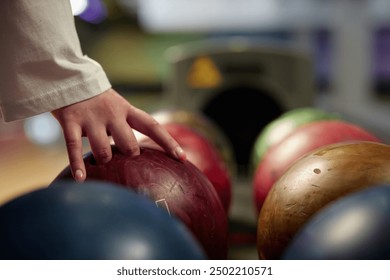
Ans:
[[[62,127],[70,168],[78,182],[83,182],[87,175],[83,161],[83,136],[88,137],[98,164],[107,163],[112,158],[109,136],[123,154],[139,155],[133,129],[149,136],[171,156],[186,159],[183,149],[152,116],[132,106],[113,89],[59,108],[52,114]]]

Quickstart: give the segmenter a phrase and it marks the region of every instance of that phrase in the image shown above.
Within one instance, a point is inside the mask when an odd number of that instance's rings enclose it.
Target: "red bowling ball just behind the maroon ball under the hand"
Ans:
[[[228,214],[232,200],[231,178],[228,167],[213,144],[187,125],[169,123],[165,124],[164,127],[186,152],[187,159],[210,180]],[[140,139],[139,142],[155,149],[161,149],[148,137]]]

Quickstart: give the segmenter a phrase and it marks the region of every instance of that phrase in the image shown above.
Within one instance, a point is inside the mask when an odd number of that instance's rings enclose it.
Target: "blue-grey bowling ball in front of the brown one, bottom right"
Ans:
[[[290,242],[283,259],[390,259],[390,184],[330,203]]]

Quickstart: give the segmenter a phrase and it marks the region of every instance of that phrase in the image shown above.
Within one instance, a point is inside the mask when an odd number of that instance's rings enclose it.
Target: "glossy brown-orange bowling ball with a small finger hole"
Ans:
[[[322,146],[296,161],[270,190],[258,217],[260,259],[279,259],[297,231],[328,203],[390,183],[390,146],[368,141]]]

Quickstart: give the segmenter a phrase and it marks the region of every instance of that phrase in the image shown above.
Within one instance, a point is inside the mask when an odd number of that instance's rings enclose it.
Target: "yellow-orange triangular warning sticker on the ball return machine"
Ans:
[[[214,88],[221,84],[222,76],[208,56],[200,56],[194,60],[188,72],[187,82],[192,88]]]

